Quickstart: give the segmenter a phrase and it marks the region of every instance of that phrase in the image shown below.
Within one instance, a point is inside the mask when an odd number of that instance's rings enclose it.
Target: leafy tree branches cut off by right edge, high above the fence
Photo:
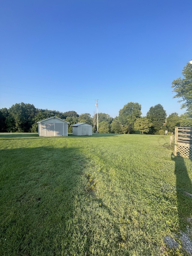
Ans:
[[[181,108],[186,108],[192,112],[192,65],[187,62],[182,72],[183,78],[179,77],[172,82],[173,92],[176,95],[173,98],[181,98],[178,102],[183,102]]]

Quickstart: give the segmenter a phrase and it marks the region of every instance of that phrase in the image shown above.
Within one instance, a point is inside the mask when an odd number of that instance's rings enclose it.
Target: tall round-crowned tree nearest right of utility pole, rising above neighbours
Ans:
[[[128,128],[128,133],[132,133],[134,131],[134,122],[141,114],[141,105],[139,103],[128,102],[119,110],[119,121]]]

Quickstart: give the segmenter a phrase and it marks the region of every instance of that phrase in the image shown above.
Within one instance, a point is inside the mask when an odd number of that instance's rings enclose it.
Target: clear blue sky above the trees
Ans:
[[[192,59],[191,0],[6,0],[0,9],[0,109],[15,103],[112,117],[180,114],[171,83]]]

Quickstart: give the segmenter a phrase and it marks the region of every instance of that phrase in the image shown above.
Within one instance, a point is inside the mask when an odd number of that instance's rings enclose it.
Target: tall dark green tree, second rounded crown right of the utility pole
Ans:
[[[161,104],[150,107],[146,117],[152,122],[151,133],[155,134],[161,130],[166,120],[166,111]]]

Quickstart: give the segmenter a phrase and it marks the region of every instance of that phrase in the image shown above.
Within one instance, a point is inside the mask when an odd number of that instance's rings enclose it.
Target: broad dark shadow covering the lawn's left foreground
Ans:
[[[78,148],[1,150],[0,255],[59,255],[85,160]]]

